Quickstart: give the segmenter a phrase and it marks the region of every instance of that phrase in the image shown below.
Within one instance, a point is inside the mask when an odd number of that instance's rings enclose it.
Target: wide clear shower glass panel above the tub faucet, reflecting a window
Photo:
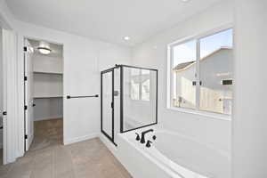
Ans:
[[[157,124],[158,70],[123,66],[122,132]]]

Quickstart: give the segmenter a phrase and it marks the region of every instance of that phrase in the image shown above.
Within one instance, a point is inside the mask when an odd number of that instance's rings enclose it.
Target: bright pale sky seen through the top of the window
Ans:
[[[213,36],[200,39],[200,58],[213,53],[221,47],[232,47],[232,29],[227,29]],[[185,44],[174,46],[174,67],[187,61],[196,61],[197,41],[192,40]]]

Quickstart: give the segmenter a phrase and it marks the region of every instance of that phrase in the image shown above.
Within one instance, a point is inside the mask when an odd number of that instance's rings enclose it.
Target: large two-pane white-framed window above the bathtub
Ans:
[[[170,45],[173,108],[231,115],[232,29]]]

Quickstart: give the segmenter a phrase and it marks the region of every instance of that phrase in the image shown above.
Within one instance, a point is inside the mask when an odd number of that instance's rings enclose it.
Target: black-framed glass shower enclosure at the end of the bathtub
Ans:
[[[101,71],[101,133],[115,145],[118,133],[158,124],[158,69],[116,65]]]

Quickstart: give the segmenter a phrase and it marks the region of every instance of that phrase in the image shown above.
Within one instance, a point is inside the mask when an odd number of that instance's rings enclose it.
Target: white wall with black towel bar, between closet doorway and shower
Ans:
[[[23,36],[63,44],[64,143],[78,142],[100,132],[100,98],[70,99],[67,95],[100,93],[100,70],[129,63],[130,50],[61,31],[18,22]],[[22,47],[21,47],[22,49]],[[22,52],[19,53],[22,60]]]

